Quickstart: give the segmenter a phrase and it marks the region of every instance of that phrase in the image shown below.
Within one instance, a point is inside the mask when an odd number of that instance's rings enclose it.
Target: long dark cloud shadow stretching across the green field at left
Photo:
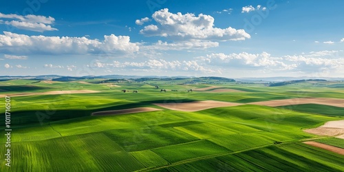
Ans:
[[[68,109],[68,110],[32,110],[32,111],[12,111],[11,124],[12,125],[28,125],[34,123],[54,122],[58,120],[69,120],[73,118],[80,118],[85,116],[91,116],[96,111],[109,111],[118,109],[129,109],[135,107],[155,107],[153,103],[189,103],[196,100],[191,99],[179,99],[179,100],[150,100],[140,103],[129,103],[125,105],[116,105],[104,107],[100,109]],[[159,108],[159,107],[158,107]],[[4,124],[4,123],[3,123]],[[0,125],[5,127],[5,125]]]

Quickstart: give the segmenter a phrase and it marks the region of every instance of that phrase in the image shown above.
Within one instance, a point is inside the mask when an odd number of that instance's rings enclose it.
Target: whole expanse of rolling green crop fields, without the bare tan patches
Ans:
[[[325,122],[343,120],[343,107],[248,104],[290,98],[344,98],[343,88],[339,87],[341,83],[266,87],[216,80],[207,84],[181,84],[191,82],[190,78],[129,81],[0,81],[0,89],[4,90],[0,94],[11,97],[12,108],[12,162],[7,168],[6,162],[2,161],[0,171],[344,169],[344,155],[303,143],[312,140],[344,149],[341,138],[304,131],[320,127]],[[123,89],[129,92],[122,92]],[[166,89],[166,92],[160,89]],[[40,94],[61,90],[94,92]],[[200,111],[159,106],[178,107],[180,103],[204,100],[237,104]],[[192,106],[193,103],[186,105]],[[137,107],[159,110],[111,115],[114,110]],[[0,110],[4,112],[5,107],[1,106]],[[110,112],[107,116],[92,116],[99,111]],[[4,122],[0,127],[4,134]],[[0,154],[4,155],[6,149],[6,137],[2,135]]]

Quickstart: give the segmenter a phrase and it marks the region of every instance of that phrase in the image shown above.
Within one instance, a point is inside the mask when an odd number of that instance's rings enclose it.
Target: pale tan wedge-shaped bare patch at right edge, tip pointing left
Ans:
[[[315,129],[305,129],[304,131],[319,136],[338,136],[338,138],[341,138],[344,135],[344,120],[326,122],[325,125]]]

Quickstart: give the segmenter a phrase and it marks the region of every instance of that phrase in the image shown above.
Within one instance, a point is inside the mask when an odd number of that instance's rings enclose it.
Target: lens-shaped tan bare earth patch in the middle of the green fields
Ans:
[[[191,103],[154,103],[154,105],[158,105],[160,107],[175,111],[200,111],[204,109],[211,109],[214,107],[232,107],[243,104],[206,100]]]

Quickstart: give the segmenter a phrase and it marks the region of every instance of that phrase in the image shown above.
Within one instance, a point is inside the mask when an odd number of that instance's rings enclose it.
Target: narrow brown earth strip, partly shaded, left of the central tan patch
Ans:
[[[153,107],[136,107],[131,109],[120,109],[114,111],[97,111],[92,113],[92,116],[112,116],[112,115],[122,115],[122,114],[132,114],[144,111],[161,111],[162,109],[156,109]]]

